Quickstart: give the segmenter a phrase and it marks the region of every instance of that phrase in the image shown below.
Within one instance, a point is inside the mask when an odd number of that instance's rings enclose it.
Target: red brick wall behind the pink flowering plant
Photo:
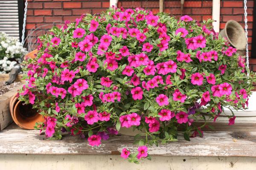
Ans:
[[[52,22],[65,20],[75,21],[83,13],[96,14],[109,7],[109,0],[28,0],[28,17],[26,29]],[[118,7],[143,7],[159,11],[159,0],[119,0]],[[249,49],[252,42],[253,0],[247,0]],[[228,20],[236,20],[244,26],[243,0],[221,0],[221,23],[223,29]],[[164,11],[177,18],[180,17],[180,0],[164,0]],[[212,17],[212,1],[185,0],[183,14],[196,20],[207,20]],[[50,28],[51,26],[45,26]],[[250,54],[250,53],[249,53]],[[250,68],[256,71],[256,59],[250,59]]]

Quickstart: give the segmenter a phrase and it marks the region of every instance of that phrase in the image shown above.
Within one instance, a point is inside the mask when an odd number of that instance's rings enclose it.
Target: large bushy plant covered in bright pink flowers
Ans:
[[[255,74],[211,23],[141,8],[82,15],[38,38],[19,99],[45,117],[36,127],[50,139],[67,131],[99,146],[120,128],[137,128],[140,147],[121,156],[150,159],[147,145],[177,141],[177,130],[186,140],[203,136],[224,107],[247,107]]]

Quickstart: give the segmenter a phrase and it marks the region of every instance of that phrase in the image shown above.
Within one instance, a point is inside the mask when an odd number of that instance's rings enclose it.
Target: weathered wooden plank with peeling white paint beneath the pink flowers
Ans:
[[[79,136],[64,135],[62,140],[46,140],[38,130],[3,130],[0,132],[0,153],[10,154],[80,154],[80,155],[119,155],[123,147],[132,152],[137,146],[131,136],[111,136],[102,141],[100,147],[90,147]],[[204,137],[185,141],[182,134],[178,142],[170,142],[159,147],[149,147],[155,156],[249,156],[256,157],[256,131],[247,132],[204,132]]]

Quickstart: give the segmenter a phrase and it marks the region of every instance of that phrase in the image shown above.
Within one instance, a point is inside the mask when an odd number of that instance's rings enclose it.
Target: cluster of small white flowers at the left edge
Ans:
[[[0,32],[0,74],[11,71],[26,53],[26,48],[22,47],[17,38]]]

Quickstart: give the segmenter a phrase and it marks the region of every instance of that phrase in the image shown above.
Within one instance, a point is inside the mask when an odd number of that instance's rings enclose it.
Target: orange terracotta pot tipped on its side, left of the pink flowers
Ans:
[[[21,128],[32,130],[36,122],[44,122],[44,117],[38,114],[36,109],[32,109],[32,105],[23,105],[23,102],[15,97],[10,101],[10,112],[13,121]]]

